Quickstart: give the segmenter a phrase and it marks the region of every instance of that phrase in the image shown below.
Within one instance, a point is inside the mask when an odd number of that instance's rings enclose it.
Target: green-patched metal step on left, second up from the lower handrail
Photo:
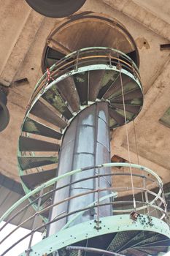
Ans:
[[[18,162],[22,170],[41,167],[44,165],[52,165],[58,162],[58,157],[18,157]]]

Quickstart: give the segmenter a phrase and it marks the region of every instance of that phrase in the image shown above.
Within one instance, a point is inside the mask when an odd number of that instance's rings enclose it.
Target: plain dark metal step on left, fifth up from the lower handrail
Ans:
[[[54,124],[56,127],[61,129],[66,127],[66,122],[63,121],[59,116],[57,116],[50,108],[48,108],[44,103],[38,101],[31,109],[31,114],[42,118],[43,120],[49,122],[50,124]]]

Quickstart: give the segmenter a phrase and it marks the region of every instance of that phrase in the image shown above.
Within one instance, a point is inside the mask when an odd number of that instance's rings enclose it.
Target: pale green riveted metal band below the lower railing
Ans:
[[[144,230],[145,232],[151,231],[170,238],[169,226],[165,222],[152,217],[152,225],[149,225],[147,224],[147,217],[144,217],[144,219],[146,220],[146,222],[144,222],[146,224],[142,224],[140,219],[133,221],[130,219],[129,214],[104,217],[100,219],[101,228],[99,230],[94,228],[96,225],[94,221],[83,222],[79,225],[61,230],[55,235],[45,238],[35,246],[32,246],[30,256],[44,255],[45,253],[48,255],[58,249],[87,238],[128,230]],[[23,252],[20,256],[26,256],[26,252]]]

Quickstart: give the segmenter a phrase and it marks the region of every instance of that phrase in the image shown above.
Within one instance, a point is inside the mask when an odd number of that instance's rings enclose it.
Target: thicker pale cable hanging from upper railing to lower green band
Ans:
[[[128,145],[128,161],[130,163],[129,170],[131,173],[131,188],[132,188],[132,194],[133,194],[134,209],[136,209],[136,200],[135,200],[135,196],[134,196],[134,181],[133,181],[133,174],[132,174],[132,169],[131,169],[131,156],[130,156],[130,147],[129,147],[129,139],[128,139],[128,129],[127,129],[127,118],[126,118],[126,113],[125,113],[125,97],[124,97],[124,91],[123,91],[123,80],[122,80],[121,65],[120,65],[118,51],[117,51],[117,59],[118,59],[119,67],[120,67],[120,84],[121,84],[122,97],[123,97],[123,111],[124,111],[124,116],[125,116],[125,134],[126,134],[127,145]]]

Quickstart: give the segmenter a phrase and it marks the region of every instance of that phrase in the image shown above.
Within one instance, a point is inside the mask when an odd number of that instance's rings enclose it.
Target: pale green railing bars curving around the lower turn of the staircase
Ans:
[[[28,199],[28,197],[31,197],[33,195],[37,195],[37,193],[44,191],[45,188],[52,186],[53,184],[56,183],[56,181],[61,180],[62,178],[66,178],[68,176],[73,176],[76,173],[80,173],[82,171],[87,171],[87,170],[91,170],[91,169],[99,169],[99,168],[103,168],[103,167],[132,167],[138,170],[142,171],[142,174],[140,173],[132,173],[133,176],[138,177],[138,178],[144,178],[147,180],[150,180],[152,182],[152,184],[156,184],[159,188],[158,192],[153,192],[150,191],[149,189],[147,189],[147,187],[136,187],[134,186],[134,191],[137,192],[144,192],[147,193],[147,195],[151,195],[150,197],[150,201],[147,202],[147,200],[136,200],[136,211],[139,213],[143,213],[144,209],[147,209],[148,206],[150,206],[150,211],[147,212],[147,214],[149,214],[148,216],[152,216],[152,212],[154,213],[155,211],[159,213],[159,219],[165,221],[165,217],[167,216],[166,214],[166,201],[164,200],[164,198],[162,197],[163,194],[163,183],[161,181],[161,178],[154,173],[152,170],[150,170],[147,167],[144,167],[142,165],[135,165],[135,164],[130,164],[130,163],[107,163],[107,164],[102,164],[102,165],[96,165],[96,166],[90,166],[90,167],[84,167],[84,168],[80,168],[77,170],[72,170],[69,173],[65,173],[62,176],[58,176],[56,178],[52,178],[50,181],[45,182],[45,184],[40,185],[39,187],[37,187],[36,189],[34,189],[33,191],[29,192],[27,195],[25,195],[23,198],[21,198],[20,200],[18,200],[17,203],[14,204],[14,206],[12,206],[11,208],[9,208],[9,210],[0,218],[0,222],[4,219],[6,219],[7,217],[9,217],[9,214],[12,213],[12,211],[14,211],[16,208],[18,208],[18,206],[21,205],[21,203],[23,203],[25,200]],[[144,175],[144,171],[146,173],[150,173],[152,175],[152,178],[147,178],[146,175]],[[78,183],[80,181],[84,181],[84,180],[88,180],[90,178],[101,178],[104,176],[113,176],[113,175],[130,175],[130,173],[104,173],[104,174],[100,174],[99,172],[96,172],[96,176],[90,176],[88,178],[82,178],[79,179],[77,181],[74,181],[74,183]],[[64,187],[69,186],[69,184],[64,184],[61,187],[58,187],[57,189],[62,189]],[[45,192],[44,195],[37,195],[37,198],[35,200],[33,200],[31,203],[27,204],[25,207],[23,207],[21,210],[23,211],[24,208],[28,208],[29,206],[32,205],[33,202],[35,202],[36,200],[42,200],[43,196],[47,196],[49,193],[54,192],[55,189],[51,189],[49,192]],[[93,189],[90,190],[88,192],[82,192],[82,193],[78,193],[76,195],[73,195],[72,197],[69,196],[67,198],[64,198],[63,200],[58,201],[57,203],[51,203],[50,205],[46,205],[44,206],[44,208],[39,208],[38,211],[36,211],[35,214],[31,215],[31,217],[28,217],[28,219],[24,220],[22,223],[20,223],[18,225],[18,227],[15,227],[14,230],[12,230],[10,233],[7,234],[7,236],[5,236],[0,243],[2,244],[7,238],[9,238],[9,236],[12,235],[12,233],[14,233],[16,230],[18,230],[18,228],[20,226],[22,226],[23,224],[25,224],[26,222],[28,222],[31,219],[36,218],[37,216],[49,211],[51,208],[60,205],[63,202],[69,202],[69,200],[72,200],[74,198],[77,197],[82,197],[84,195],[89,195],[89,194],[95,194],[95,193],[100,193],[100,192],[104,192],[104,191],[108,191],[109,194],[105,195],[103,197],[100,197],[98,200],[95,200],[94,202],[90,203],[88,206],[82,206],[82,208],[78,208],[75,211],[66,211],[63,212],[61,214],[58,214],[58,216],[56,216],[54,219],[47,221],[47,223],[40,225],[39,227],[35,227],[33,230],[31,230],[30,233],[28,233],[26,236],[23,236],[23,238],[20,238],[17,242],[15,242],[15,244],[12,244],[12,246],[9,246],[9,248],[3,252],[2,255],[5,255],[10,249],[12,249],[16,244],[19,244],[20,241],[23,241],[25,238],[27,238],[28,236],[33,236],[33,234],[36,231],[42,230],[42,228],[47,227],[48,225],[54,223],[54,222],[58,222],[61,219],[67,218],[69,216],[73,216],[72,219],[69,220],[69,222],[66,223],[65,226],[62,227],[61,230],[65,230],[66,228],[69,228],[70,225],[72,223],[74,223],[74,221],[80,217],[85,211],[88,211],[90,209],[94,209],[94,208],[98,208],[98,207],[103,207],[103,206],[113,206],[112,212],[115,215],[120,215],[120,214],[131,214],[131,211],[134,211],[134,204],[133,204],[133,200],[119,200],[119,197],[117,197],[117,193],[119,192],[125,192],[125,191],[131,191],[131,187],[102,187],[102,188],[98,188],[98,189]],[[139,194],[136,194],[139,195]],[[115,198],[115,200],[109,200],[109,202],[104,202],[102,203],[102,201],[106,200],[107,198]],[[153,198],[152,198],[153,197]],[[151,199],[152,198],[152,199]],[[21,212],[21,210],[19,210],[19,213]],[[14,214],[13,217],[9,218],[12,219],[14,217],[16,217],[17,215]],[[99,212],[97,213],[98,218],[101,218]],[[154,214],[153,214],[154,216]],[[9,220],[7,222],[9,222]],[[165,221],[166,222],[166,221]],[[1,230],[6,226],[7,224],[3,225],[3,227],[1,227]]]

